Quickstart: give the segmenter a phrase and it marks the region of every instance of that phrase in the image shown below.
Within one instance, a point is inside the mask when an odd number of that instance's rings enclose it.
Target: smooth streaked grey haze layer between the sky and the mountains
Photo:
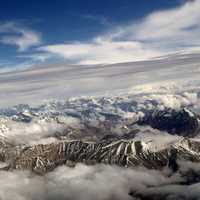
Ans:
[[[39,65],[1,73],[0,104],[8,107],[68,97],[198,90],[199,55],[172,54],[113,65]]]

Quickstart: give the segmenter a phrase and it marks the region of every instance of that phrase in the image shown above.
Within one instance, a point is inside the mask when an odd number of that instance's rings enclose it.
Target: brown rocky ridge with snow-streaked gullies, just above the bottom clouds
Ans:
[[[46,145],[25,147],[4,146],[0,153],[3,169],[28,169],[43,174],[59,165],[74,166],[104,163],[124,167],[144,166],[162,169],[168,166],[176,171],[177,160],[200,161],[200,141],[182,139],[158,147],[155,143],[118,140],[114,142],[61,141]]]

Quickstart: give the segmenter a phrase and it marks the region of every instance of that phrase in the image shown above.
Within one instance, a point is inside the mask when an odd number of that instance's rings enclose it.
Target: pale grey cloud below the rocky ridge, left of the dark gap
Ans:
[[[82,164],[75,168],[59,167],[44,177],[20,171],[0,172],[0,198],[131,200],[131,189],[139,190],[145,189],[148,185],[169,184],[174,182],[175,178],[179,180],[177,177],[164,177],[161,172],[153,170]]]

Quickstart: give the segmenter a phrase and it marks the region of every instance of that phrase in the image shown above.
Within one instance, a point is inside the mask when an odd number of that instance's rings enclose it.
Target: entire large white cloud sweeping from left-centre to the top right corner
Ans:
[[[146,60],[200,46],[200,1],[154,12],[89,42],[42,46],[38,50],[79,63],[117,63]]]

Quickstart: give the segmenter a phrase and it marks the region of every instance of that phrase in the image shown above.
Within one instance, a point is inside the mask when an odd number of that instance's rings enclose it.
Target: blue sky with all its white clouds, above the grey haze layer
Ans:
[[[199,10],[200,0],[7,0],[0,7],[0,71],[198,51]]]

